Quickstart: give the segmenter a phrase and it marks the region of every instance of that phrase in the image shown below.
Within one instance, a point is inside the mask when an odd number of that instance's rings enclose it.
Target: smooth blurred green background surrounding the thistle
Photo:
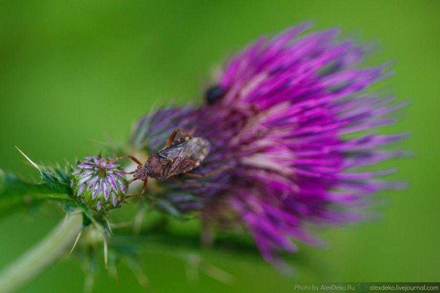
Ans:
[[[206,275],[188,284],[184,264],[145,253],[157,292],[291,292],[312,281],[440,281],[440,2],[439,1],[1,1],[0,167],[37,178],[19,146],[36,162],[73,161],[96,154],[108,132],[126,139],[132,122],[155,103],[200,99],[213,65],[262,34],[297,22],[315,29],[339,25],[362,40],[376,38],[396,58],[399,100],[412,98],[397,126],[411,131],[400,146],[416,150],[391,179],[411,187],[382,192],[381,220],[323,230],[327,250],[301,246],[286,259],[298,271],[286,279],[261,257],[206,252],[210,263],[237,279],[227,286]],[[117,113],[117,114],[115,114]],[[17,214],[0,222],[0,268],[30,248],[63,217],[61,211]],[[100,268],[94,292],[143,292],[127,267],[119,284]],[[81,292],[84,274],[68,259],[22,292]]]

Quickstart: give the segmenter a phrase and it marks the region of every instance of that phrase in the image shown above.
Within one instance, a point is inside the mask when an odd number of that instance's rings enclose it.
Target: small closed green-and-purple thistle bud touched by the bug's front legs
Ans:
[[[107,211],[117,207],[118,200],[122,200],[126,193],[127,179],[121,172],[116,163],[109,164],[97,156],[87,156],[73,168],[70,187],[74,195],[91,209]]]

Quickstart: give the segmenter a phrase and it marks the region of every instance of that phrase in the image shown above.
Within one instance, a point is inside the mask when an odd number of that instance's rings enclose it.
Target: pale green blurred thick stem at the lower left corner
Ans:
[[[73,212],[34,247],[0,272],[0,293],[18,290],[71,248],[83,224],[82,214]]]

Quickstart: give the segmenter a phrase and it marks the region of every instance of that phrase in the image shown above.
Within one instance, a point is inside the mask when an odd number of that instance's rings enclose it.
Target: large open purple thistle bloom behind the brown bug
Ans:
[[[384,66],[356,68],[365,45],[341,42],[338,30],[296,37],[308,24],[262,38],[227,65],[201,106],[168,106],[141,119],[132,144],[156,152],[175,128],[208,139],[211,152],[194,173],[224,170],[205,179],[167,180],[165,197],[202,220],[247,226],[272,263],[276,251],[297,250],[292,239],[319,246],[307,227],[365,219],[367,196],[403,183],[377,180],[396,169],[354,172],[401,156],[379,150],[407,134],[378,135],[374,127],[407,102],[366,93],[390,76]],[[358,169],[357,169],[358,170]],[[360,210],[359,210],[360,209]]]

